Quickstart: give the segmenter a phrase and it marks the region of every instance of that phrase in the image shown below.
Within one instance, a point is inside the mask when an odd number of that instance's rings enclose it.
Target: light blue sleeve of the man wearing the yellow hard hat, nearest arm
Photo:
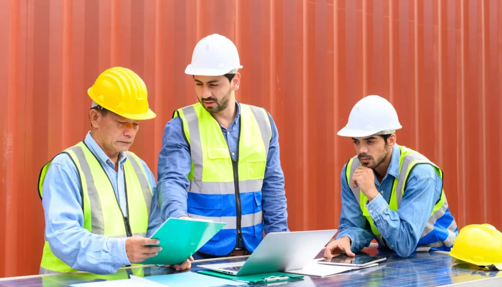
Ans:
[[[59,259],[70,267],[111,274],[130,265],[126,238],[110,238],[84,229],[78,171],[66,154],[56,156],[43,185],[45,235]]]

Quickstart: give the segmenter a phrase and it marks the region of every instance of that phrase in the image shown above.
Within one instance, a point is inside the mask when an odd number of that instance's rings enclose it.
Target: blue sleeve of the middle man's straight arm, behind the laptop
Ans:
[[[284,173],[281,168],[279,154],[279,133],[270,114],[269,119],[272,127],[272,139],[270,141],[269,153],[267,154],[267,165],[265,166],[265,177],[262,187],[265,234],[289,231]]]

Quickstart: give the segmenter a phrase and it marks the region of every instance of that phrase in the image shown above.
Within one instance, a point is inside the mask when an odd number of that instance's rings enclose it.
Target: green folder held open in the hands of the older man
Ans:
[[[180,264],[209,241],[226,223],[169,218],[150,238],[159,239],[162,250],[141,264]]]

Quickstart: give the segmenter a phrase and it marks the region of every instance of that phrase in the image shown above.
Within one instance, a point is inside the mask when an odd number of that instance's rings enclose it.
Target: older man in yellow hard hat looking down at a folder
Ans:
[[[155,178],[128,151],[143,120],[156,117],[133,71],[113,67],[88,89],[91,130],[41,170],[45,215],[41,274],[111,274],[155,256],[148,237],[162,224]],[[181,262],[180,262],[181,263]],[[190,260],[176,268],[190,268]]]

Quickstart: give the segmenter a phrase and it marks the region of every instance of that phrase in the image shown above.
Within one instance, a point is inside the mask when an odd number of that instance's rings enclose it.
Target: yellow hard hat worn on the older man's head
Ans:
[[[102,72],[87,90],[99,106],[130,120],[149,120],[157,115],[148,106],[145,82],[135,72],[113,67]]]

